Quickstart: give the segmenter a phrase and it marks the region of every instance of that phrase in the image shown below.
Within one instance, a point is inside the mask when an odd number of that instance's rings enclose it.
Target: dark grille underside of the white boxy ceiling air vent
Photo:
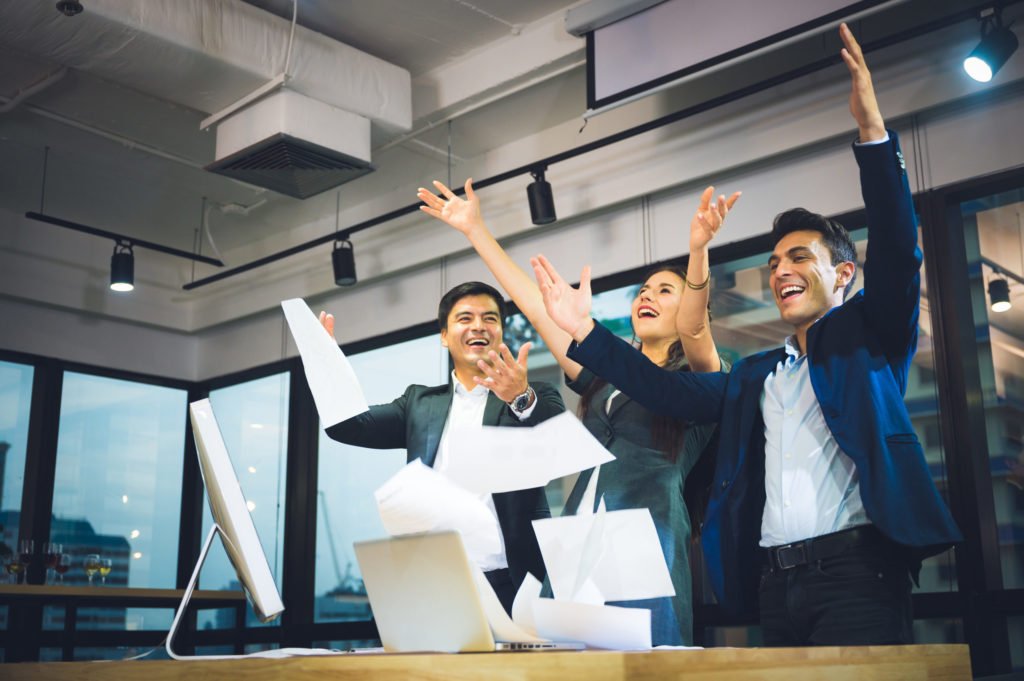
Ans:
[[[347,154],[279,133],[206,169],[296,199],[308,199],[366,175],[374,167]]]

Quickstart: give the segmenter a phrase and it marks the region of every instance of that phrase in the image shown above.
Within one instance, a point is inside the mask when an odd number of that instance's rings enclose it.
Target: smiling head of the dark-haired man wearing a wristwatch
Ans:
[[[487,352],[498,352],[501,343],[502,315],[494,298],[479,294],[455,302],[441,329],[441,345],[452,353],[457,374],[480,373],[477,360],[488,359]]]

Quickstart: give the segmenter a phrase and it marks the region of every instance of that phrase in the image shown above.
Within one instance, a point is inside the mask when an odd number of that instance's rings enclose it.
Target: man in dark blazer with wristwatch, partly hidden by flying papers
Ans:
[[[321,323],[334,335],[333,315]],[[441,344],[455,366],[446,385],[411,385],[388,405],[327,429],[332,438],[378,450],[404,449],[408,460],[420,459],[443,472],[447,436],[467,425],[534,426],[565,411],[558,391],[548,383],[528,383],[529,343],[513,357],[502,342],[505,300],[493,287],[469,282],[441,298],[437,324]],[[498,516],[502,551],[478,564],[510,613],[526,572],[545,576],[532,520],[551,517],[543,487],[489,495],[484,500]]]

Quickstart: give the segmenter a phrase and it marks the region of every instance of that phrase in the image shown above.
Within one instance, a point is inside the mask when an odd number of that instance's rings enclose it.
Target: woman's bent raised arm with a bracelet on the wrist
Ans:
[[[715,187],[705,189],[700,195],[700,205],[690,220],[690,259],[686,268],[686,286],[676,314],[676,331],[683,343],[683,352],[690,369],[696,372],[717,372],[722,368],[708,316],[711,284],[708,245],[722,227],[726,213],[739,199],[739,191],[728,200],[721,195],[713,203],[714,197]]]

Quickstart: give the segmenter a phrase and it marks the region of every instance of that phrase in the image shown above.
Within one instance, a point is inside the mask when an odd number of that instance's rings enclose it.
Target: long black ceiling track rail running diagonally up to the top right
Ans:
[[[898,31],[898,32],[896,32],[896,33],[894,33],[894,34],[892,34],[890,36],[885,37],[885,38],[881,38],[879,40],[876,40],[876,41],[872,41],[872,42],[869,42],[869,43],[864,43],[861,46],[861,48],[863,49],[864,52],[874,51],[874,50],[878,50],[878,49],[882,49],[884,47],[889,47],[891,45],[895,45],[895,44],[903,42],[905,40],[910,40],[912,38],[918,38],[920,36],[927,35],[929,33],[932,33],[933,31],[938,31],[940,29],[944,29],[944,28],[953,26],[954,24],[958,24],[961,22],[964,22],[964,20],[967,20],[967,19],[970,19],[970,18],[977,18],[978,15],[979,15],[979,12],[981,10],[987,9],[987,8],[989,8],[989,7],[992,6],[993,1],[994,0],[987,0],[986,2],[977,3],[977,4],[975,4],[975,5],[973,5],[973,6],[969,7],[969,8],[966,8],[966,9],[963,9],[961,11],[948,14],[946,16],[942,16],[942,17],[933,19],[933,20],[928,22],[926,24],[920,24],[918,26],[911,27],[909,29],[905,29],[903,31]],[[1019,2],[1024,2],[1024,0],[1002,0],[1000,2],[1000,6],[1005,7],[1005,6],[1017,4]],[[707,101],[702,101],[702,102],[700,102],[698,104],[694,104],[692,107],[687,107],[686,109],[681,109],[681,110],[679,110],[677,112],[673,112],[672,114],[667,114],[667,115],[662,116],[660,118],[656,118],[656,119],[654,119],[652,121],[648,121],[646,123],[641,123],[640,125],[634,126],[632,128],[628,128],[626,130],[616,132],[616,133],[608,135],[606,137],[602,137],[600,139],[595,139],[594,141],[588,142],[588,143],[583,144],[581,146],[575,146],[575,147],[567,150],[565,152],[560,152],[560,153],[555,154],[553,156],[549,156],[547,158],[540,159],[540,160],[535,161],[532,163],[528,163],[528,164],[522,165],[522,166],[519,166],[517,168],[513,168],[511,170],[506,170],[506,171],[501,172],[501,173],[499,173],[497,175],[492,175],[490,177],[487,177],[485,179],[474,180],[473,181],[473,188],[474,189],[482,189],[482,188],[490,186],[493,184],[498,184],[499,182],[504,182],[505,180],[512,179],[513,177],[518,177],[519,175],[526,175],[526,174],[530,173],[531,171],[534,171],[535,169],[538,169],[538,168],[547,168],[548,166],[551,166],[553,164],[561,163],[562,161],[568,161],[569,159],[573,159],[573,158],[575,158],[578,156],[583,156],[585,154],[589,154],[591,152],[594,152],[596,150],[602,148],[604,146],[608,146],[610,144],[614,144],[616,142],[621,142],[621,141],[629,139],[631,137],[635,137],[637,135],[641,135],[641,134],[643,134],[645,132],[650,132],[651,130],[655,130],[657,128],[665,127],[666,125],[669,125],[669,124],[672,124],[672,123],[676,123],[676,122],[681,121],[683,119],[690,118],[692,116],[696,116],[697,114],[702,114],[702,113],[705,113],[707,111],[710,111],[712,109],[716,109],[718,107],[722,107],[724,104],[731,103],[731,102],[736,101],[738,99],[742,99],[743,97],[748,97],[748,96],[750,96],[752,94],[757,94],[758,92],[762,92],[764,90],[770,89],[770,88],[775,87],[777,85],[781,85],[783,83],[787,83],[790,81],[796,80],[796,79],[801,78],[803,76],[807,76],[807,75],[815,73],[817,71],[821,71],[822,69],[826,69],[828,67],[835,66],[837,63],[842,63],[842,62],[843,62],[843,58],[840,56],[839,51],[837,50],[836,54],[834,54],[831,56],[827,56],[827,57],[823,57],[821,59],[817,59],[816,61],[812,61],[810,63],[807,63],[807,65],[803,66],[803,67],[799,67],[797,69],[793,69],[793,70],[786,71],[786,72],[784,72],[782,74],[779,74],[777,76],[772,76],[771,78],[767,78],[767,79],[765,79],[763,81],[760,81],[758,83],[754,83],[752,85],[749,85],[746,87],[740,88],[738,90],[734,90],[732,92],[728,92],[726,94],[722,94],[722,95],[719,95],[717,97],[712,97],[711,99],[709,99]],[[462,195],[464,193],[464,189],[462,187],[452,187],[452,190],[455,194],[457,194],[457,195]],[[331,243],[331,242],[333,242],[335,240],[338,240],[338,239],[348,239],[351,235],[353,235],[353,233],[355,233],[357,231],[362,231],[364,229],[369,229],[369,228],[377,226],[378,224],[381,224],[383,222],[388,222],[390,220],[399,218],[399,217],[401,217],[403,215],[409,215],[410,213],[415,213],[415,212],[419,211],[421,205],[422,205],[421,203],[417,202],[417,203],[414,203],[414,204],[409,204],[407,206],[402,206],[401,208],[397,208],[397,209],[395,209],[393,211],[390,211],[388,213],[384,213],[383,215],[379,215],[377,217],[370,218],[369,220],[364,220],[362,222],[358,222],[356,224],[353,224],[352,226],[350,226],[350,227],[348,227],[346,229],[341,229],[340,231],[334,231],[334,232],[331,232],[331,233],[328,233],[328,235],[324,235],[323,237],[317,237],[316,239],[311,239],[311,240],[309,240],[307,242],[304,242],[302,244],[298,244],[296,246],[292,246],[291,248],[287,248],[287,249],[285,249],[283,251],[279,251],[278,253],[271,253],[270,255],[264,256],[262,258],[257,259],[257,260],[253,260],[252,262],[247,262],[246,264],[239,265],[238,267],[233,267],[231,269],[228,269],[228,270],[225,270],[225,271],[222,271],[222,272],[217,272],[216,274],[211,274],[210,276],[206,276],[204,279],[196,280],[195,282],[189,282],[189,283],[185,284],[184,286],[182,286],[181,288],[184,289],[185,291],[190,291],[193,289],[198,289],[201,286],[206,286],[208,284],[213,284],[214,282],[219,282],[219,281],[227,279],[229,276],[233,276],[236,274],[241,274],[241,273],[247,272],[247,271],[249,271],[251,269],[256,269],[257,267],[262,267],[263,265],[269,264],[271,262],[275,262],[278,260],[282,260],[284,258],[290,257],[290,256],[295,255],[297,253],[302,253],[303,251],[308,251],[309,249],[315,248],[316,246],[321,246],[323,244],[329,244],[329,243]]]

